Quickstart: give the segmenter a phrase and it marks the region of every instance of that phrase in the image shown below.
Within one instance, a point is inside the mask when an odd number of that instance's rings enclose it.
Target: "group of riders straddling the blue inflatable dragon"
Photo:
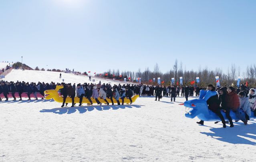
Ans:
[[[208,85],[209,91],[217,91],[217,94],[207,100],[208,109],[216,113],[222,121],[223,128],[226,123],[230,123],[230,127],[234,127],[230,112],[233,111],[238,119],[246,125],[250,120],[251,113],[256,117],[256,90],[250,89],[242,84],[241,89],[234,87],[220,87],[216,89],[213,85]],[[223,111],[228,119],[224,120],[221,113]],[[236,121],[237,122],[237,121]],[[197,122],[204,125],[204,121]],[[218,123],[218,122],[215,122]]]

